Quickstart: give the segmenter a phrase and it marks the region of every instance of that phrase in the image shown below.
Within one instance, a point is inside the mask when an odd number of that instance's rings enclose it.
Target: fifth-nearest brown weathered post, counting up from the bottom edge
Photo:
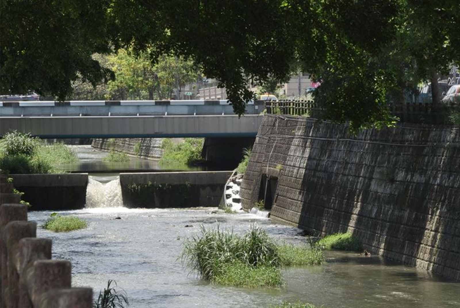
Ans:
[[[27,206],[22,204],[3,204],[0,206],[0,276],[1,276],[1,308],[6,308],[5,288],[7,286],[8,276],[6,267],[6,239],[5,227],[8,222],[23,220],[27,221]]]

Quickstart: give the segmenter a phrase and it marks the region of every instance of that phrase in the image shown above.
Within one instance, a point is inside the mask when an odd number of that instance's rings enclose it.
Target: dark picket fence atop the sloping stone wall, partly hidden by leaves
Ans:
[[[460,111],[459,103],[389,103],[389,111],[401,122],[450,125],[452,112]],[[324,109],[313,101],[267,101],[267,114],[286,114],[322,118]]]

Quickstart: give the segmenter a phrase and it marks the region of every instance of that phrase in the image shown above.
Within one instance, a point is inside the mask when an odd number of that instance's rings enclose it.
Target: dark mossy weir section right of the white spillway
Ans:
[[[218,206],[232,171],[121,173],[127,207]]]

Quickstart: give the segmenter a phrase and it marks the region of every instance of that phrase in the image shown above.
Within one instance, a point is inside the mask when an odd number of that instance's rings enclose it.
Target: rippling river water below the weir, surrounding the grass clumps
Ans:
[[[384,262],[380,257],[328,252],[322,266],[283,270],[281,289],[245,290],[209,285],[183,268],[178,257],[184,239],[206,227],[236,233],[257,223],[280,241],[305,242],[297,228],[277,225],[252,214],[224,214],[215,208],[92,208],[64,211],[89,222],[85,230],[37,236],[53,240],[53,258],[72,262],[73,286],[98,291],[115,279],[133,308],[269,307],[282,300],[336,307],[459,307],[460,284],[416,268]],[[51,212],[30,212],[43,224]],[[121,217],[120,220],[114,220]],[[185,225],[193,227],[185,228]]]

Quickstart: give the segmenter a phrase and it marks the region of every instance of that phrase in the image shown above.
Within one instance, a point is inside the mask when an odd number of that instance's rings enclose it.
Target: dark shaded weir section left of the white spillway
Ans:
[[[87,173],[11,174],[14,187],[33,211],[78,210],[85,207]]]

